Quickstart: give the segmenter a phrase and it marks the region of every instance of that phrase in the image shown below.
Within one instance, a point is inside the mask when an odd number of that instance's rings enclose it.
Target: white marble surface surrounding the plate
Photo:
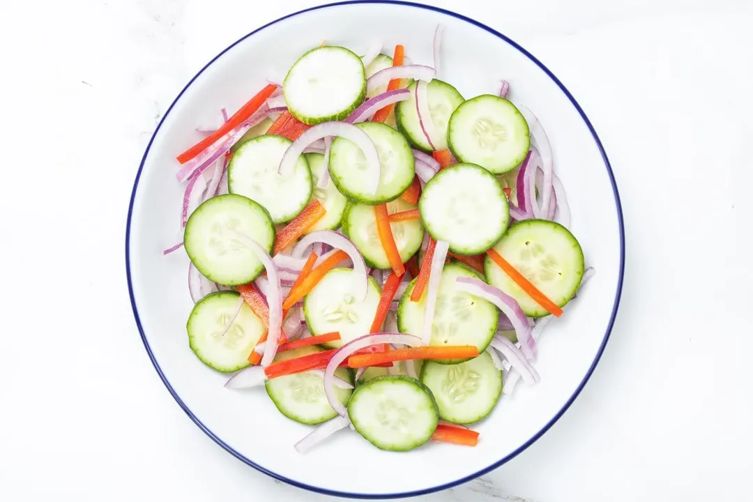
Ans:
[[[317,3],[0,4],[0,500],[325,500],[236,461],[176,406],[123,267],[133,177],[175,94]],[[505,467],[416,500],[750,500],[753,4],[431,3],[510,35],[579,100],[623,196],[627,273],[569,412]]]

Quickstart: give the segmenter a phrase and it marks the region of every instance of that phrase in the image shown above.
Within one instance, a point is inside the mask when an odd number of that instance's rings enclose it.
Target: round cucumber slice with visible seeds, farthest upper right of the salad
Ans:
[[[528,123],[505,98],[484,94],[468,99],[450,117],[450,150],[495,175],[511,171],[526,158],[530,147]]]

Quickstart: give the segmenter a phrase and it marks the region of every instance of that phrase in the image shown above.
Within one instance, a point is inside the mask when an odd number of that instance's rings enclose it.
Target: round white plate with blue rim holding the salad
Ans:
[[[388,52],[401,43],[413,62],[431,65],[437,23],[445,26],[440,78],[466,98],[495,93],[505,78],[511,99],[541,120],[568,193],[571,230],[596,275],[567,315],[547,327],[536,365],[541,382],[502,397],[492,415],[474,425],[480,431],[477,447],[431,443],[407,453],[383,452],[346,430],[299,455],[293,443],[309,427],[280,415],[263,389],[227,391],[222,387],[227,376],[201,364],[188,348],[188,259],[183,252],[162,255],[178,235],[184,190],[175,182],[175,155],[200,139],[194,130],[198,124],[212,123],[223,107],[237,109],[267,77],[284,75],[298,56],[323,39],[360,53],[375,40],[383,41]],[[133,187],[126,236],[136,323],[154,367],[184,411],[252,467],[293,485],[351,497],[410,496],[448,488],[504,464],[544,434],[599,361],[617,312],[623,248],[620,202],[607,157],[565,87],[504,35],[448,11],[404,2],[354,2],[303,11],[252,32],[212,59],[181,91],[149,142]]]

